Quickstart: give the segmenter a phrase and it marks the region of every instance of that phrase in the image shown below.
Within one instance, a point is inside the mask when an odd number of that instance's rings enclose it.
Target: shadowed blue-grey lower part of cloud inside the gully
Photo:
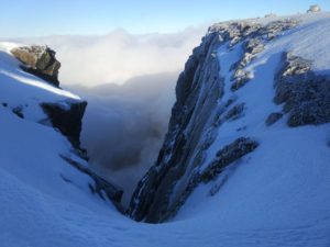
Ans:
[[[176,72],[142,76],[123,86],[79,90],[89,104],[81,143],[98,173],[124,190],[128,205],[157,158],[174,103]]]

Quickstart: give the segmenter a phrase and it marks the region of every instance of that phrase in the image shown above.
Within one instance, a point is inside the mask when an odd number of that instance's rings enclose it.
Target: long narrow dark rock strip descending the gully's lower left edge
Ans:
[[[90,184],[91,192],[99,194],[102,199],[103,195],[106,195],[110,201],[112,201],[116,207],[123,213],[123,207],[121,205],[121,198],[123,191],[121,189],[117,188],[109,181],[102,179],[94,171],[91,171],[88,167],[77,162],[76,160],[73,160],[65,156],[61,156],[61,158],[63,158],[69,165],[74,166],[79,171],[88,175],[95,181],[94,184]]]

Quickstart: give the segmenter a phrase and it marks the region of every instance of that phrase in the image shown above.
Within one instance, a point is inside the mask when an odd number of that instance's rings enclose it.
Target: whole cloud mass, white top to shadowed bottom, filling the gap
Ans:
[[[205,30],[24,41],[54,48],[62,63],[61,85],[88,101],[82,146],[94,169],[124,189],[125,205],[157,158],[178,74]]]

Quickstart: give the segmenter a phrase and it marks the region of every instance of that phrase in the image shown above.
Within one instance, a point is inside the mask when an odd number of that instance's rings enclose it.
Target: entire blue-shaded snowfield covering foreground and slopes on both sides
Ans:
[[[235,92],[245,115],[219,128],[208,157],[242,135],[262,145],[199,186],[175,218],[156,225],[121,215],[90,192],[89,177],[59,157],[88,166],[59,132],[38,123],[45,117],[38,104],[79,97],[24,72],[9,53],[14,44],[0,43],[0,246],[329,247],[330,124],[292,128],[284,116],[265,126],[270,112],[280,110],[273,83],[283,52],[311,59],[315,71],[329,75],[330,13],[295,18],[301,23],[266,44],[246,68],[253,78]],[[241,53],[240,44],[218,49],[227,85]],[[229,86],[224,93],[231,97]],[[16,106],[24,119],[12,112]]]

